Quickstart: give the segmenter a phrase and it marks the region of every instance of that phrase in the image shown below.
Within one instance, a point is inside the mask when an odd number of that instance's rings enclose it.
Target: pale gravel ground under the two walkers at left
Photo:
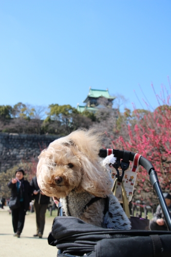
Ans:
[[[56,247],[49,246],[47,237],[51,231],[54,217],[46,217],[42,239],[33,237],[36,232],[35,213],[26,215],[24,229],[20,238],[13,236],[12,217],[8,207],[0,210],[0,255],[1,257],[55,257]]]

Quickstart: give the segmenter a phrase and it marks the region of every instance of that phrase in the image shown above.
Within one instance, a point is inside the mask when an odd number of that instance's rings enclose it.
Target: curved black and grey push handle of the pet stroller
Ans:
[[[127,154],[129,154],[130,161],[133,161],[134,156],[135,156],[135,153],[133,153],[133,152],[121,151],[118,149],[111,149],[110,152],[115,157],[117,157],[117,160],[123,159],[124,152],[127,152]],[[105,158],[107,155],[108,155],[107,149],[100,149],[100,151],[99,151],[100,157]],[[151,162],[149,160],[147,160],[146,158],[144,158],[143,156],[141,156],[139,159],[139,165],[141,165],[149,174],[149,180],[156,192],[157,198],[159,200],[159,204],[161,206],[161,209],[162,209],[162,212],[163,212],[166,224],[167,224],[167,228],[169,231],[171,231],[171,216],[170,216],[168,207],[166,205],[163,193],[160,188],[159,179],[157,177],[157,172],[155,171],[153,164],[151,164]]]

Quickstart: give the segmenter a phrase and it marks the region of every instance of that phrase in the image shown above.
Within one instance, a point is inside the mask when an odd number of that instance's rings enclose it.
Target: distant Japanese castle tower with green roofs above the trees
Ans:
[[[83,103],[85,106],[77,105],[78,112],[82,113],[84,111],[96,113],[100,108],[112,108],[112,101],[115,97],[109,95],[108,89],[99,90],[89,88],[89,93]]]

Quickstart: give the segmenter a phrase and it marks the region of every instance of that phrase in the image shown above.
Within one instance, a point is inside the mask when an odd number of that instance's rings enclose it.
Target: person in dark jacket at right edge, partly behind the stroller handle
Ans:
[[[163,196],[171,214],[171,195],[169,193],[163,193]],[[151,219],[149,223],[149,228],[150,230],[168,230],[160,205],[158,205],[156,212],[154,213],[154,218]]]

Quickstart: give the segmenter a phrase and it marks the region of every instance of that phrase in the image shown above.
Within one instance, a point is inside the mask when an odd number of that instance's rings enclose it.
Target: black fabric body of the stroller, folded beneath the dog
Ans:
[[[62,251],[58,257],[171,256],[170,231],[104,229],[68,216],[54,218],[48,243]]]

